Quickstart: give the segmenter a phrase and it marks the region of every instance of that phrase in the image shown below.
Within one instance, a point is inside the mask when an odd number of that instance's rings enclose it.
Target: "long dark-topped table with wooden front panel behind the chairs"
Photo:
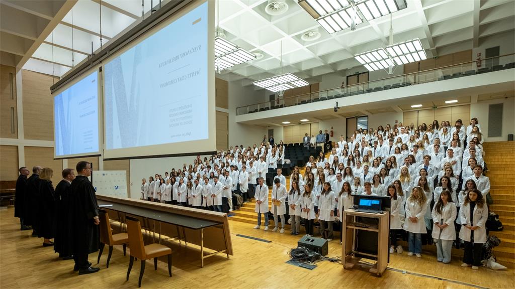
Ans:
[[[224,252],[228,259],[229,255],[233,255],[229,223],[225,213],[100,194],[97,194],[97,199],[102,209],[112,210],[120,216],[121,224],[124,224],[125,215],[142,218],[147,223],[145,229],[153,233],[154,242],[157,222],[159,243],[166,240],[161,238],[164,234],[170,237],[169,239],[177,237],[175,240],[179,240],[179,244],[183,240],[186,246],[187,243],[199,245],[201,267],[204,266],[205,258],[220,252]],[[152,221],[152,229],[149,221]],[[165,227],[164,230],[161,224]],[[204,248],[212,249],[214,252],[206,255]]]

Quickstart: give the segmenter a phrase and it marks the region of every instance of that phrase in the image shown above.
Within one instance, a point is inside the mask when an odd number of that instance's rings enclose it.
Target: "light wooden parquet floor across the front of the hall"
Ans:
[[[42,239],[30,237],[31,231],[20,231],[13,209],[0,211],[0,288],[135,288],[138,286],[140,263],[135,262],[129,281],[125,280],[129,258],[122,248],[116,247],[109,268],[107,252],[100,260],[100,272],[78,276],[73,272],[73,260],[57,258],[53,248],[42,247]],[[382,278],[366,270],[344,270],[341,265],[323,261],[314,270],[288,265],[287,252],[296,247],[299,236],[271,231],[253,230],[253,225],[230,222],[234,256],[220,255],[205,260],[200,268],[198,251],[173,248],[173,276],[168,277],[166,263],[158,262],[158,270],[147,264],[142,288],[466,288],[467,284],[419,277],[387,270]],[[264,243],[236,236],[244,234],[272,241]],[[190,246],[188,246],[190,247]],[[338,241],[329,245],[329,257],[340,255]],[[96,254],[90,261],[96,263]],[[95,261],[95,262],[94,262]],[[423,273],[442,279],[458,280],[480,287],[512,288],[513,270],[493,271],[479,268],[462,268],[460,260],[451,264],[436,262],[435,256],[423,254],[422,259],[394,254],[391,268],[411,273]]]

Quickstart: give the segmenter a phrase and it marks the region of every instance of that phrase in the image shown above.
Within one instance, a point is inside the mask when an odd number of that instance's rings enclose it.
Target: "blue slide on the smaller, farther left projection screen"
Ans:
[[[98,154],[98,73],[54,97],[55,156]]]

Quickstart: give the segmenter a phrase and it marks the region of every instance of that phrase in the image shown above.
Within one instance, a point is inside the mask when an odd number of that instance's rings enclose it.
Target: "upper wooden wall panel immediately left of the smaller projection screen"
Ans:
[[[54,78],[57,81],[58,78]],[[52,76],[22,70],[25,139],[54,140]]]

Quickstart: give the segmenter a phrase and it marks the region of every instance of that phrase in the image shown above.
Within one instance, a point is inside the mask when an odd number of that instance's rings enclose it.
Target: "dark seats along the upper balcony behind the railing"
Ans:
[[[455,73],[455,74],[452,74],[452,75],[443,75],[443,76],[439,77],[438,80],[447,80],[447,79],[453,79],[453,78],[458,78],[458,77],[462,77],[462,76],[469,76],[469,75],[489,73],[491,71],[498,71],[498,70],[509,69],[509,68],[515,68],[515,62],[508,63],[508,64],[506,64],[504,66],[503,65],[494,65],[494,66],[492,66],[492,68],[483,67],[483,68],[479,68],[477,70],[467,70],[464,73]],[[306,104],[306,103],[330,100],[330,99],[346,97],[346,96],[354,96],[354,95],[361,95],[361,94],[371,93],[371,92],[386,91],[386,89],[404,87],[404,86],[409,86],[409,85],[411,85],[410,81],[403,82],[403,83],[394,83],[392,85],[388,84],[388,85],[385,85],[385,86],[378,86],[378,87],[375,87],[375,88],[368,88],[368,89],[365,89],[364,91],[361,90],[361,91],[355,91],[355,92],[347,92],[345,94],[337,94],[337,95],[330,95],[330,96],[327,96],[327,97],[324,96],[324,97],[318,97],[318,98],[313,98],[313,99],[301,100],[297,104]],[[297,104],[294,104],[294,105],[297,105]],[[253,111],[249,111],[249,113],[256,113],[258,111],[263,112],[263,111],[268,111],[270,109],[271,110],[281,109],[282,107],[284,107],[284,105],[282,105],[282,104],[281,105],[271,106],[271,107],[261,107],[261,109],[259,109],[259,110],[255,109]]]

